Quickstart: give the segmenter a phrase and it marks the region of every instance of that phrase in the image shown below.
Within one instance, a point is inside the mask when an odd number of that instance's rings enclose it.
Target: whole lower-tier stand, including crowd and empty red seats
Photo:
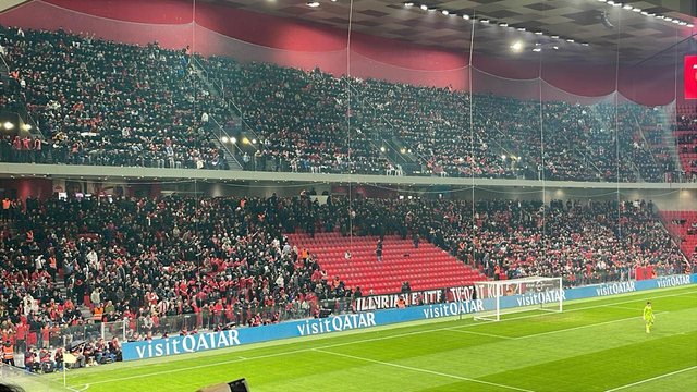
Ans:
[[[311,195],[14,201],[1,236],[10,320],[3,329],[26,326],[15,336],[40,347],[59,343],[66,328],[81,328],[75,338],[83,339],[99,335],[99,322],[119,328],[113,322],[126,319],[127,338],[137,340],[311,316],[355,295],[356,285],[366,293],[394,291],[404,281],[413,290],[438,289],[482,279],[479,271],[492,279],[562,275],[575,285],[627,279],[643,266],[686,268],[650,203],[541,207],[480,200],[473,216],[467,201],[330,197],[320,204]],[[351,233],[353,242],[339,237]],[[383,261],[370,262],[380,236]],[[341,259],[345,250],[348,260]],[[426,266],[442,273],[426,280],[415,271]],[[196,316],[179,317],[187,314]]]

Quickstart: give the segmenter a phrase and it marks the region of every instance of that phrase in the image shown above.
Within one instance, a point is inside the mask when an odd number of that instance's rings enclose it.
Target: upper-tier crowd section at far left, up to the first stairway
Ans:
[[[185,50],[4,27],[0,45],[11,70],[2,103],[24,102],[45,137],[37,150],[5,135],[3,160],[228,167],[208,130],[208,117],[221,103],[191,72]]]

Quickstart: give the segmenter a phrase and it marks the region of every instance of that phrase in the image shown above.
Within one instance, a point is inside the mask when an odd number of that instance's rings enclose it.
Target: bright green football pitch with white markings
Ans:
[[[644,329],[651,299],[656,326]],[[70,391],[697,391],[697,290],[575,301],[564,311],[472,317],[276,341],[68,372]],[[62,390],[61,375],[42,382]],[[37,380],[34,380],[37,381]],[[40,390],[36,389],[36,390]],[[35,390],[34,388],[27,390]]]

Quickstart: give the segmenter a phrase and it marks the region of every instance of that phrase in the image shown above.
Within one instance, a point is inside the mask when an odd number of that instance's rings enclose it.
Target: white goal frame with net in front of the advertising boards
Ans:
[[[485,304],[485,311],[478,313],[475,320],[499,321],[501,315],[529,310],[560,313],[564,299],[561,278],[476,282],[475,290]]]

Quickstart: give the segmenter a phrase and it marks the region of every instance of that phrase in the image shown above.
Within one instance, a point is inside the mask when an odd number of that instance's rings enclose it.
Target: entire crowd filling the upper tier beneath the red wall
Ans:
[[[225,169],[233,157],[213,139],[234,124],[227,131],[246,143],[229,147],[246,170],[384,174],[413,163],[409,174],[603,182],[674,171],[638,137],[660,110],[638,105],[470,97],[63,30],[0,35],[11,69],[2,103],[26,102],[47,138],[8,136],[3,160]]]

